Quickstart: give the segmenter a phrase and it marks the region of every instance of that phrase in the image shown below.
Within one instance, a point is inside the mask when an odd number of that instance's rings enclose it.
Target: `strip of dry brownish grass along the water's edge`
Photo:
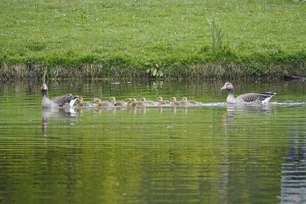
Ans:
[[[305,78],[306,61],[298,65],[268,64],[263,65],[264,69],[243,66],[235,63],[181,63],[169,65],[161,69],[163,76],[153,76],[147,73],[147,67],[137,67],[125,64],[108,65],[91,63],[80,66],[54,66],[48,67],[48,79],[241,79],[241,78],[271,78],[280,79],[286,75],[294,75]],[[15,80],[27,77],[41,78],[45,66],[43,64],[13,64],[6,63],[0,67],[0,77],[3,80]]]

